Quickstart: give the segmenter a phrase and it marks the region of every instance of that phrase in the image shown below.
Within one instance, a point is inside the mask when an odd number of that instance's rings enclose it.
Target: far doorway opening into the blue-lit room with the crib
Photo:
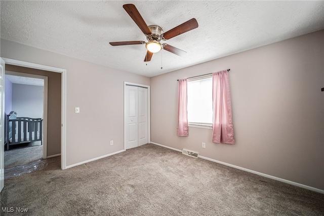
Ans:
[[[5,142],[7,143],[7,151],[5,151],[5,168],[17,167],[42,158],[46,159],[48,77],[6,70],[5,79],[5,117],[7,117],[5,120]],[[21,143],[18,142],[18,144],[12,145],[13,140],[8,140],[7,137],[9,134],[8,115],[12,113],[14,113],[14,117],[17,116],[17,118],[41,119],[39,123],[42,125],[42,130],[39,130],[39,132],[42,132],[42,134],[31,132],[34,133],[32,139],[28,139],[27,136],[26,141],[26,139],[24,140],[24,137],[22,137],[20,139]],[[13,122],[11,122],[11,124],[12,123]],[[22,127],[24,124],[26,126],[28,125],[28,123],[23,123]],[[25,131],[28,131],[27,128]],[[39,137],[38,139],[37,136]],[[18,137],[11,137],[11,139],[12,138],[18,141]],[[33,141],[36,139],[37,141]]]

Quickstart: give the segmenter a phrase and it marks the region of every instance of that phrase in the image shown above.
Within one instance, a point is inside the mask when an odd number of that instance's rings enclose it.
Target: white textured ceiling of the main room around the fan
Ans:
[[[323,1],[1,1],[1,38],[153,77],[190,65],[324,29]],[[168,31],[196,18],[199,27],[168,40],[144,62],[146,41],[124,4],[147,25]],[[161,66],[163,69],[161,69]],[[230,66],[230,65],[229,65]]]

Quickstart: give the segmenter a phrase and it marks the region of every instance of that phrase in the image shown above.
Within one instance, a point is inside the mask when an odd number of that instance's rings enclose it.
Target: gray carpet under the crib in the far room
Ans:
[[[5,151],[5,168],[16,167],[43,158],[41,141],[10,146]]]

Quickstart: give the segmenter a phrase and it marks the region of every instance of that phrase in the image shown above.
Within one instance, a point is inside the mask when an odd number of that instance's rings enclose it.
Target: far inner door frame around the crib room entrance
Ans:
[[[48,77],[35,75],[35,74],[25,74],[21,72],[15,71],[6,71],[6,75],[13,75],[19,77],[29,77],[29,78],[37,78],[44,80],[44,101],[43,101],[43,158],[47,158],[47,106],[48,106]]]

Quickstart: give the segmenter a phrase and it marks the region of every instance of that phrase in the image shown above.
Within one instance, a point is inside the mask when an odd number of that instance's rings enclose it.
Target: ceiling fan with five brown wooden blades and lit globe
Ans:
[[[138,25],[138,27],[143,31],[146,35],[145,41],[123,41],[123,42],[110,42],[111,46],[121,46],[121,45],[135,45],[135,44],[145,44],[147,49],[147,53],[144,61],[150,61],[153,53],[159,52],[161,49],[167,50],[171,53],[174,53],[179,56],[183,56],[186,54],[185,51],[180,50],[176,47],[173,47],[168,44],[161,44],[161,41],[166,41],[171,38],[176,37],[179,34],[190,31],[196,27],[198,27],[197,20],[192,18],[167,32],[163,32],[163,29],[158,25],[149,25],[147,26],[141,14],[138,12],[137,8],[133,4],[123,5],[123,8],[130,15],[130,17],[134,20],[134,22]]]

